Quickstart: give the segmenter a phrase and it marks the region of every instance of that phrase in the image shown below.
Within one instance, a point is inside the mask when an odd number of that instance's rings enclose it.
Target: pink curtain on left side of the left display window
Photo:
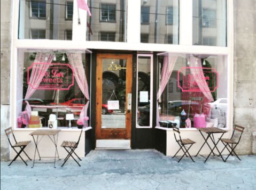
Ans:
[[[46,57],[47,57],[47,59],[46,59]],[[45,72],[48,70],[52,60],[53,60],[53,54],[41,53],[41,52],[36,53],[34,63],[48,63],[48,64],[36,64],[33,66],[32,73],[29,77],[29,83],[33,84],[33,88],[32,88],[32,86],[28,85],[25,99],[29,99],[35,93],[35,90],[40,85],[40,83],[45,75]],[[27,111],[28,119],[29,119],[32,109],[31,109],[31,106],[29,105],[28,101],[26,101],[26,103],[27,103],[27,105],[26,105],[25,110]]]

